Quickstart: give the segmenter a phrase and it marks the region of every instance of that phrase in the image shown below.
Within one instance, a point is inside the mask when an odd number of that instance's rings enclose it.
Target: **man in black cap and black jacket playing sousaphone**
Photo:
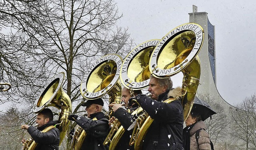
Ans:
[[[82,106],[86,106],[87,117],[70,114],[68,120],[76,121],[86,132],[82,144],[82,150],[108,150],[103,142],[108,135],[108,119],[102,112],[103,100],[87,100]]]

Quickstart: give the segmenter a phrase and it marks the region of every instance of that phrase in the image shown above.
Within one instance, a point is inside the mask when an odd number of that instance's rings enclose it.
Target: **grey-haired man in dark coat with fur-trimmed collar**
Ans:
[[[149,98],[136,96],[140,106],[154,119],[146,133],[143,150],[182,150],[183,109],[179,100],[170,104],[164,100],[181,95],[181,88],[172,88],[170,78],[150,76]]]

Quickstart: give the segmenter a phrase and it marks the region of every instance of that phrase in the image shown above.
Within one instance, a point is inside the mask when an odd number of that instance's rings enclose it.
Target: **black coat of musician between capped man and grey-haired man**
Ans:
[[[131,108],[130,111],[132,112],[136,110],[136,108],[138,108],[138,106]],[[114,113],[114,116],[125,129],[125,132],[116,145],[115,150],[134,150],[134,146],[129,145],[133,130],[128,131],[127,129],[132,125],[136,118],[124,108],[118,108]]]

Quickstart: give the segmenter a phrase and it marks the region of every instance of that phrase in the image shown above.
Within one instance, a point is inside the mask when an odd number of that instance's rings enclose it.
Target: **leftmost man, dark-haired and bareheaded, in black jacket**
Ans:
[[[33,140],[38,143],[35,150],[58,150],[60,143],[60,131],[55,128],[54,125],[58,124],[58,121],[53,121],[52,110],[49,108],[44,108],[38,113],[36,117],[36,123],[38,128],[34,126],[28,126],[26,124],[22,125],[22,129],[28,130],[28,133],[33,138]],[[53,128],[47,132],[41,132],[45,128],[52,126]],[[26,140],[23,139],[22,143]]]

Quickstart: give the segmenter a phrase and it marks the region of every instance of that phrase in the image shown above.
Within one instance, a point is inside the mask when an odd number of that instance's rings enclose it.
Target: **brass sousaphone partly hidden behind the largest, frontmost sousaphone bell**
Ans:
[[[131,93],[132,90],[140,90],[148,86],[150,77],[149,60],[154,48],[159,42],[160,40],[154,39],[139,44],[124,59],[120,79],[123,86],[130,89]],[[142,109],[137,109],[132,114],[140,114],[141,112]],[[114,150],[124,132],[125,129],[116,120],[104,144],[110,142],[109,149]],[[113,138],[112,135],[114,135]]]

